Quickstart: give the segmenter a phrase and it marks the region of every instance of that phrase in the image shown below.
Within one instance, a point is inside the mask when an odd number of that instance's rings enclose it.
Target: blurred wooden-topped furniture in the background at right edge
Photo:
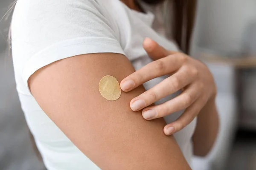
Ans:
[[[239,127],[256,130],[256,100],[253,98],[256,85],[256,56],[225,57],[206,52],[199,54],[204,62],[230,65],[235,69],[236,96],[238,99]]]

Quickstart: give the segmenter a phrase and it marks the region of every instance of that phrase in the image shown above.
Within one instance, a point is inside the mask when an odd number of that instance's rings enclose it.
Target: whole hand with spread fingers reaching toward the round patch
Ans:
[[[155,61],[123,79],[120,86],[122,91],[128,92],[151,79],[169,75],[153,88],[132,99],[130,107],[133,111],[143,109],[142,114],[146,120],[186,109],[175,122],[164,127],[164,133],[171,135],[192,122],[207,101],[215,97],[215,82],[206,65],[186,54],[167,51],[149,38],[144,40],[143,47]],[[174,99],[149,106],[179,90],[182,93]]]

